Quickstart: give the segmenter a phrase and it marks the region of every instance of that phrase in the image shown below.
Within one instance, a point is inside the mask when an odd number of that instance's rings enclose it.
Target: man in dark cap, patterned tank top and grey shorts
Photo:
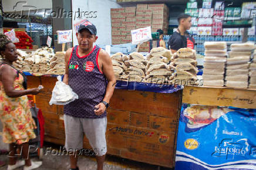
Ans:
[[[79,169],[78,155],[89,154],[83,149],[83,134],[96,155],[97,169],[103,169],[107,152],[106,108],[109,106],[116,80],[112,60],[96,42],[97,30],[89,21],[79,26],[78,46],[66,51],[66,73],[63,82],[78,94],[64,107],[65,148],[70,154],[70,169]]]

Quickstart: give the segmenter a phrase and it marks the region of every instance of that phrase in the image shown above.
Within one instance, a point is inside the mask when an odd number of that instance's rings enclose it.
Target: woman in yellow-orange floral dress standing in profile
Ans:
[[[10,149],[8,170],[23,165],[24,169],[35,169],[41,166],[42,162],[32,162],[29,159],[28,141],[36,137],[33,132],[36,125],[26,95],[36,95],[40,90],[24,90],[23,76],[12,66],[18,59],[18,52],[14,43],[2,34],[0,53],[3,57],[3,62],[0,62],[0,119],[3,124],[3,141],[9,144]],[[16,145],[25,161],[16,161]]]

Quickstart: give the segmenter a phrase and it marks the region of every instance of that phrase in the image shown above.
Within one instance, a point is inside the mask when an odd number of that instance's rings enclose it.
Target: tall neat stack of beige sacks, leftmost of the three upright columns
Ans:
[[[227,62],[226,42],[204,43],[204,86],[224,86],[225,62]]]

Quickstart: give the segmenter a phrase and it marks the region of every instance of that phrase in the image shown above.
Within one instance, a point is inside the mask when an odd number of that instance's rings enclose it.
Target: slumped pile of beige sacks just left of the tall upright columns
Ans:
[[[190,48],[181,48],[174,54],[174,61],[171,65],[176,66],[174,80],[190,82],[197,80],[196,51]]]

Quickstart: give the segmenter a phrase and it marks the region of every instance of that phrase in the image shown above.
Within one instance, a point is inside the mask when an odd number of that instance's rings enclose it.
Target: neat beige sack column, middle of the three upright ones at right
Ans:
[[[246,89],[248,87],[248,67],[254,43],[233,43],[227,59],[225,86]]]

